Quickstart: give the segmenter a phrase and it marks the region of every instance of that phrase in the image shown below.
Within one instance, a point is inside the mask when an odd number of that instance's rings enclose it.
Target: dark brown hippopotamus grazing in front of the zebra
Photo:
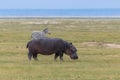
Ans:
[[[28,48],[28,58],[31,60],[33,57],[34,60],[38,60],[37,55],[51,55],[55,54],[54,59],[60,57],[60,60],[63,61],[63,54],[69,55],[71,59],[78,59],[77,49],[72,44],[61,38],[48,38],[43,37],[41,39],[32,39],[27,43]]]

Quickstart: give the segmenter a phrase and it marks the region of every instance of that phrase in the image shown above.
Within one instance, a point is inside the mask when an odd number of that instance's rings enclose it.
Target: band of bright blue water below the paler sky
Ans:
[[[120,16],[120,9],[0,9],[0,16]]]

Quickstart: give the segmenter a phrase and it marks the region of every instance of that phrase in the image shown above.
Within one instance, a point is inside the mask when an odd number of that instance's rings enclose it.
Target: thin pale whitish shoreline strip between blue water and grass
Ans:
[[[120,19],[120,16],[0,16],[0,19],[19,19],[19,18]]]

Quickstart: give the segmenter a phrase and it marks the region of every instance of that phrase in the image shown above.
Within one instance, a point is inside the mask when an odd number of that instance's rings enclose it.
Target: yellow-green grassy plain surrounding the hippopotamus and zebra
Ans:
[[[33,30],[72,42],[78,60],[38,55],[28,61],[26,44]],[[120,19],[0,19],[0,80],[119,80],[120,49],[85,46],[84,42],[120,44]]]

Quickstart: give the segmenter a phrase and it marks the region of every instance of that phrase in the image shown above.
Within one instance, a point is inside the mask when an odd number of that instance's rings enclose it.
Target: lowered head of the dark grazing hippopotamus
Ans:
[[[77,49],[75,48],[72,43],[67,43],[66,44],[66,49],[65,49],[65,54],[69,55],[71,59],[78,59],[78,56],[76,54]]]

